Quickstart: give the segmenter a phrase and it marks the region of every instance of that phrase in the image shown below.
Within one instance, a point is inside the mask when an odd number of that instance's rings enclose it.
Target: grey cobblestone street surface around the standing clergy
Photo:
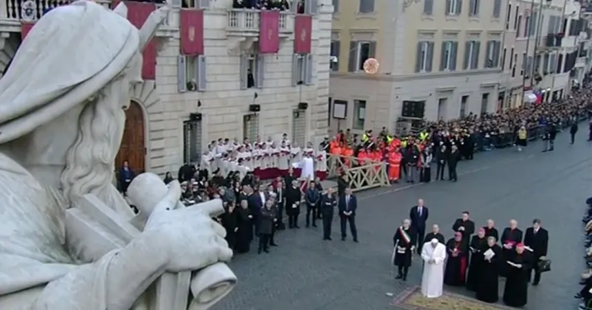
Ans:
[[[337,219],[334,240],[326,242],[321,240],[320,225],[305,229],[300,216],[303,228],[282,231],[277,236],[280,247],[272,253],[234,258],[231,265],[239,284],[214,309],[399,310],[389,305],[392,298],[385,293],[396,295],[419,285],[421,266],[415,258],[409,281],[394,280],[389,275],[391,240],[418,198],[429,207],[428,224],[439,224],[446,238],[464,210],[478,225],[493,218],[498,229],[516,218],[524,230],[533,218],[540,218],[549,230],[553,271],[543,274],[538,287],[531,287],[526,309],[577,309],[578,300],[572,296],[584,267],[580,218],[584,200],[592,195],[592,145],[584,141],[586,134],[582,130],[573,146],[568,145],[567,134],[558,135],[555,152],[542,154],[541,144],[532,143],[523,152],[478,154],[476,160],[459,164],[458,183],[404,184],[361,192],[358,244],[351,238],[340,240]]]

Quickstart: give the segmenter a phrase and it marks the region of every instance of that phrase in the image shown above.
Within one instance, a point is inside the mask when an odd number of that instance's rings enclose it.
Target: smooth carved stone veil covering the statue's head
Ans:
[[[127,19],[91,1],[45,14],[0,79],[0,144],[85,102],[123,72],[140,39]]]

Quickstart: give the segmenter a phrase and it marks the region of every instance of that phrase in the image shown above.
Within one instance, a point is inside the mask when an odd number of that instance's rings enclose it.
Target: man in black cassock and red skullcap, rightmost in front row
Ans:
[[[528,277],[531,269],[532,256],[524,251],[524,245],[518,243],[516,249],[507,257],[509,266],[504,287],[504,304],[510,307],[524,307],[528,300]]]

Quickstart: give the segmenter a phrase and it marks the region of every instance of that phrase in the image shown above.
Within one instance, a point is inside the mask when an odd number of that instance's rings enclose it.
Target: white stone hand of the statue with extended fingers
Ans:
[[[174,209],[181,198],[181,186],[170,183],[167,195],[150,214],[145,234],[159,236],[154,246],[167,254],[165,268],[170,272],[202,269],[232,258],[232,250],[224,239],[226,231],[212,217],[223,212],[221,201]]]

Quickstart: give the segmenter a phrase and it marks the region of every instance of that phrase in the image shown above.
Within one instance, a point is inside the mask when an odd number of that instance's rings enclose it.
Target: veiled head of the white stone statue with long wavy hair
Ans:
[[[141,52],[167,12],[153,12],[141,30],[127,21],[123,3],[108,10],[76,1],[45,14],[0,79],[0,145],[23,140],[48,153],[45,161],[59,158],[41,164],[64,166],[68,200],[101,198],[112,180],[130,87],[141,82]]]

